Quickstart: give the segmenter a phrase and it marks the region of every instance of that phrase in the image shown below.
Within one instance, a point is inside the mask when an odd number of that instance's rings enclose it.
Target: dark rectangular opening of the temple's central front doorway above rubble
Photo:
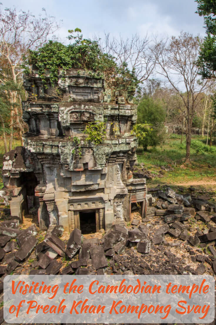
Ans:
[[[95,210],[80,211],[79,223],[82,234],[92,234],[96,232],[96,215]]]

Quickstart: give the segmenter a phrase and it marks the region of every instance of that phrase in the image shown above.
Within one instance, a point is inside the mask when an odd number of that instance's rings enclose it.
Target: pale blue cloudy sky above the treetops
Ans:
[[[195,13],[194,0],[1,0],[2,7],[30,10],[37,16],[46,9],[48,15],[61,21],[57,32],[66,41],[68,29],[76,27],[88,38],[104,32],[130,37],[167,34],[178,36],[181,31],[205,35],[203,18]]]

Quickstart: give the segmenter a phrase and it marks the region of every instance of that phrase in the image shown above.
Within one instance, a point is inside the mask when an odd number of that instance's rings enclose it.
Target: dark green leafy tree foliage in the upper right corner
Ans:
[[[197,13],[204,16],[206,34],[198,58],[199,73],[203,78],[216,78],[216,2],[195,0]]]

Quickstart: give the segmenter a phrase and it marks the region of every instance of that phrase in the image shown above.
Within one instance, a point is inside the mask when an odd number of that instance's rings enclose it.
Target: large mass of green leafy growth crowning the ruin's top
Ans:
[[[126,62],[117,64],[111,55],[101,51],[98,41],[84,39],[79,28],[68,32],[68,39],[72,41],[69,45],[50,40],[37,51],[30,50],[29,56],[24,58],[24,72],[29,74],[33,67],[45,87],[48,77],[54,87],[58,82],[59,69],[63,72],[72,68],[87,69],[96,79],[104,76],[107,88],[126,92],[129,99],[136,91],[140,92],[135,69],[130,71]]]

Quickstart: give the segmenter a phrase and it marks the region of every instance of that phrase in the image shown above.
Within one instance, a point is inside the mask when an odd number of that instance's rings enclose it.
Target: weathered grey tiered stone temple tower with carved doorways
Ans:
[[[61,96],[53,95],[48,75],[46,85],[36,70],[24,80],[29,99],[23,102],[23,119],[29,132],[25,146],[6,153],[3,162],[11,215],[22,221],[34,208],[41,229],[59,224],[83,233],[124,224],[135,202],[144,217],[145,179],[133,179],[131,171],[137,106],[92,71],[59,70]],[[83,133],[94,121],[106,123],[104,141],[97,145],[86,142]]]

